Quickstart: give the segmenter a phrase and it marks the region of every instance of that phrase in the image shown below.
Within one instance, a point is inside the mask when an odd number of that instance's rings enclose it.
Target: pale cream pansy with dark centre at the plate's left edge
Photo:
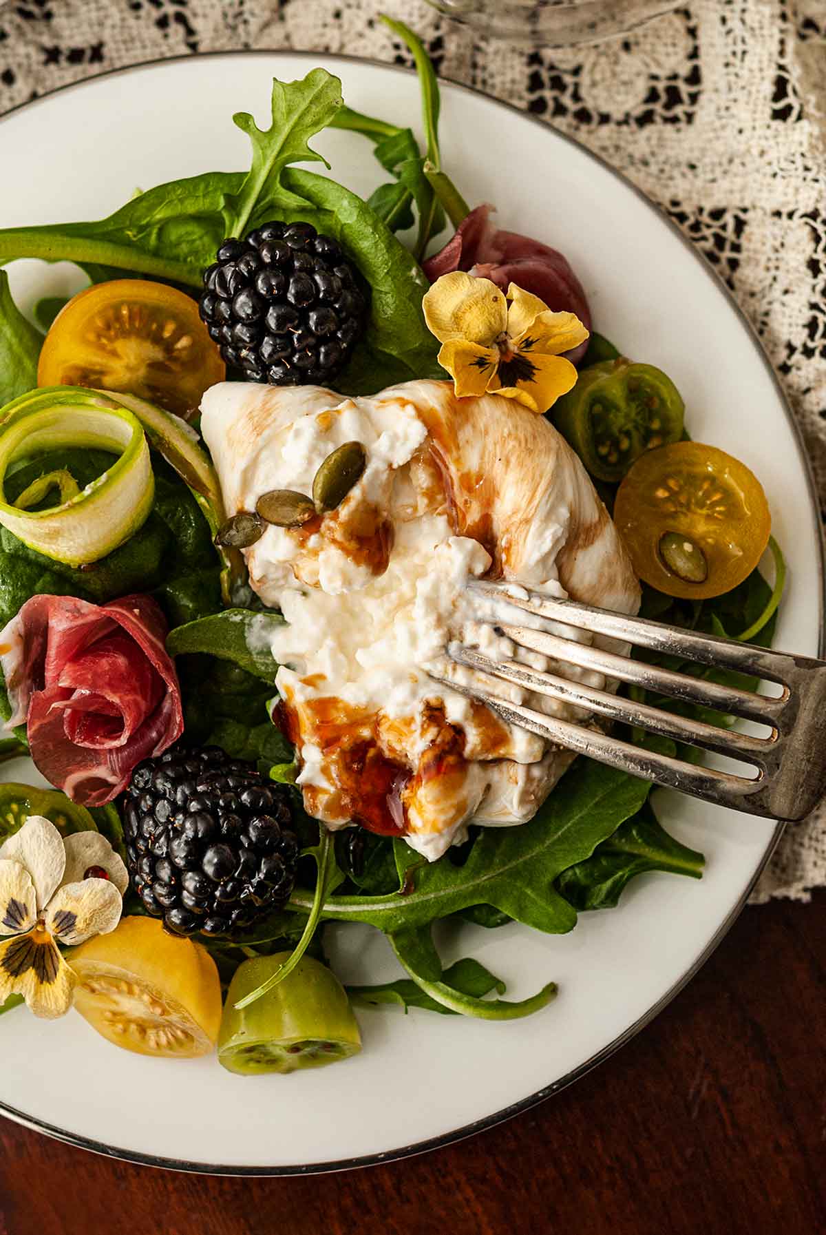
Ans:
[[[58,944],[115,930],[128,874],[100,832],[65,839],[31,815],[0,846],[0,1003],[22,995],[36,1016],[63,1016],[77,977]]]

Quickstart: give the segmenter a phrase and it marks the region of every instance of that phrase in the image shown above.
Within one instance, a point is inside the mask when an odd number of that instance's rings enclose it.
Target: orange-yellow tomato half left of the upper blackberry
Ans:
[[[37,384],[135,394],[191,416],[226,368],[190,296],[148,279],[98,283],[69,300],[41,351]]]

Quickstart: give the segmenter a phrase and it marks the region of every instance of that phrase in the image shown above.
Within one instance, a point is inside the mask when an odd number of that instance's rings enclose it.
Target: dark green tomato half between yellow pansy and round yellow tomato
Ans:
[[[684,412],[662,369],[619,357],[583,369],[551,419],[591,477],[617,483],[645,451],[680,440]]]

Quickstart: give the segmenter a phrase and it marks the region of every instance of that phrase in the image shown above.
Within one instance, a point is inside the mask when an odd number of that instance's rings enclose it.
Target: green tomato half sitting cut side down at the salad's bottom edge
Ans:
[[[235,1005],[262,986],[290,957],[275,952],[244,961],[230,984],[219,1062],[240,1076],[286,1074],[321,1068],[362,1049],[358,1023],[338,978],[326,965],[304,956],[283,982],[247,1008]]]

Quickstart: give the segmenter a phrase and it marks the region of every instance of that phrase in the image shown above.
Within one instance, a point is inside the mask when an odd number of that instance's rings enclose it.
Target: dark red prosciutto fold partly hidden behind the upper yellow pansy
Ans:
[[[465,270],[490,279],[503,291],[511,283],[544,301],[554,312],[573,312],[586,330],[591,315],[582,283],[565,257],[556,248],[517,232],[500,231],[490,221],[493,206],[477,206],[464,219],[447,245],[425,262],[431,283],[452,270]],[[588,341],[565,353],[578,364],[588,351]]]

